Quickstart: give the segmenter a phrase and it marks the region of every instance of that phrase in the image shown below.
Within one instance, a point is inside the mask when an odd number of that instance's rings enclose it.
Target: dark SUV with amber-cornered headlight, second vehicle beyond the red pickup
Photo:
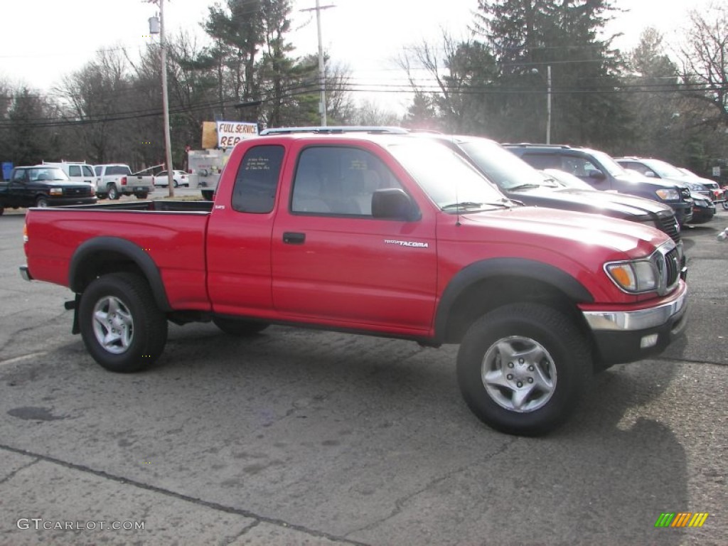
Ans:
[[[605,154],[587,148],[548,144],[504,144],[537,169],[559,169],[578,176],[594,189],[619,191],[670,205],[681,225],[692,220],[693,199],[681,182],[652,180],[628,173]]]

